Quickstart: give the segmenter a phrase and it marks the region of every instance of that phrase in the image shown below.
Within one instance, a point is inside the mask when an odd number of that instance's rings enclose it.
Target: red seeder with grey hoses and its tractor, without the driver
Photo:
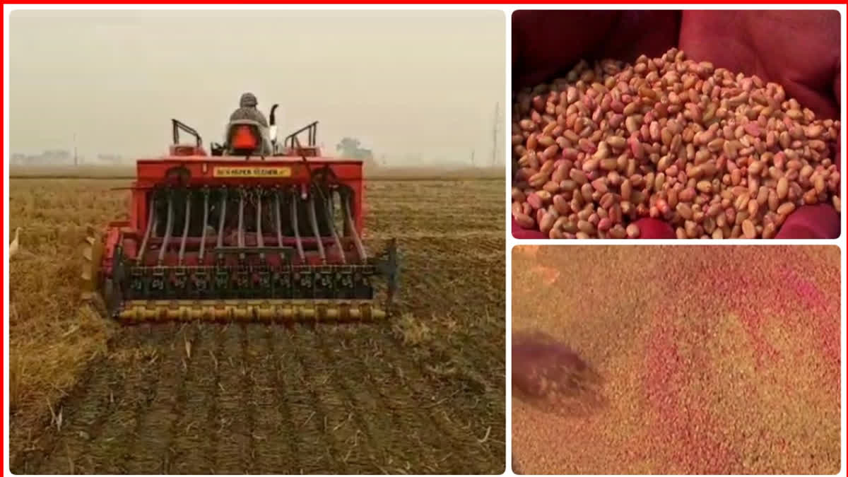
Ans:
[[[317,121],[277,141],[276,107],[265,128],[231,121],[209,152],[171,120],[168,154],[137,160],[129,220],[89,230],[86,298],[122,323],[388,317],[399,252],[365,249],[362,161],[322,157]]]

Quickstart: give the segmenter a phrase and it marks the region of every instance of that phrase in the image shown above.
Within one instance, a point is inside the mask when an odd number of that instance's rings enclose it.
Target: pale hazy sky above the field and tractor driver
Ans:
[[[13,153],[76,134],[88,157],[157,156],[172,117],[220,142],[250,91],[265,114],[280,104],[280,132],[321,121],[333,154],[352,136],[390,164],[471,149],[479,164],[505,106],[500,11],[16,11],[9,25]]]

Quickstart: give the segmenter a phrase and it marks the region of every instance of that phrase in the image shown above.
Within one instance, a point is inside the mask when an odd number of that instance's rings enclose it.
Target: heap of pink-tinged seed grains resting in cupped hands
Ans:
[[[840,121],[784,88],[671,49],[634,65],[581,61],[516,95],[512,215],[551,239],[770,239],[801,205],[840,210]]]

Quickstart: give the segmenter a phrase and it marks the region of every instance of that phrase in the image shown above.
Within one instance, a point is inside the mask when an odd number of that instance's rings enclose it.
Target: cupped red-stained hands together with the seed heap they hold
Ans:
[[[514,235],[838,236],[839,31],[825,11],[516,12]]]

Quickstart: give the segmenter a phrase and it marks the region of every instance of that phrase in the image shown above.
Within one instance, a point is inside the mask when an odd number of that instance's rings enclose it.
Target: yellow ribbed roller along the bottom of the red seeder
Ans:
[[[129,300],[117,317],[126,323],[201,319],[246,322],[373,321],[386,311],[357,300]]]

